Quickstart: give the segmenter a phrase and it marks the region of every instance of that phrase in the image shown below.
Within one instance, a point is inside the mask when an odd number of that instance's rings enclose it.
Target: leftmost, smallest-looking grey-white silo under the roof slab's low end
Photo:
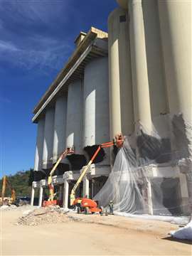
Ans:
[[[44,125],[45,117],[38,120],[34,171],[40,171],[42,169]]]

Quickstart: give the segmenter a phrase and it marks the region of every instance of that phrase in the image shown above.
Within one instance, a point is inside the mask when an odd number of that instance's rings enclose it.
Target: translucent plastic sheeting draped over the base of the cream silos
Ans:
[[[182,114],[156,117],[150,131],[138,123],[94,199],[104,207],[113,201],[114,210],[124,213],[190,215],[191,142],[191,124]]]

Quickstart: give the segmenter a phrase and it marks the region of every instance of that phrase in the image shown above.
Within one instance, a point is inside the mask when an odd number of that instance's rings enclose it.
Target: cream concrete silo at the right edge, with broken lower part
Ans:
[[[191,1],[158,1],[173,137],[184,208],[192,209]],[[179,161],[180,162],[180,161]],[[186,179],[186,181],[185,181]],[[183,193],[185,191],[186,193]],[[189,198],[189,203],[188,203]]]

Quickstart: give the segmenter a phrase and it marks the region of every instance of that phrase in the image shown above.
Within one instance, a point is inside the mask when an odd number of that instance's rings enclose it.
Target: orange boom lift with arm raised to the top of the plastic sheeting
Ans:
[[[122,147],[124,142],[124,137],[122,134],[117,134],[115,136],[115,142],[106,142],[103,144],[100,144],[95,151],[95,154],[93,154],[92,158],[90,159],[87,166],[84,166],[82,169],[82,172],[80,174],[80,177],[78,178],[78,181],[75,183],[75,186],[73,187],[71,193],[70,193],[70,206],[77,206],[78,213],[102,213],[102,207],[98,207],[98,202],[94,201],[90,198],[76,198],[75,199],[75,191],[77,190],[78,186],[80,185],[80,182],[82,181],[82,178],[87,174],[87,171],[89,171],[91,164],[95,160],[97,154],[100,152],[103,148],[108,148],[110,146],[116,145],[118,148]]]

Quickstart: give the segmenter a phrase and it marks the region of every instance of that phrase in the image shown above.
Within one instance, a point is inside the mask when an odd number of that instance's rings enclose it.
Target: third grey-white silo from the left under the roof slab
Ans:
[[[61,95],[55,102],[55,122],[53,136],[53,162],[57,161],[65,149],[65,128],[67,117],[67,95]]]

